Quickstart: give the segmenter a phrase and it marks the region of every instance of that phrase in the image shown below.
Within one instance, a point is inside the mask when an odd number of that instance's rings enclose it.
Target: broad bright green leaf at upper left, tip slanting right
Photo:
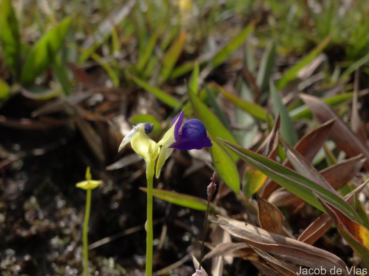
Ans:
[[[70,26],[71,18],[66,18],[47,32],[32,47],[21,72],[21,82],[31,83],[55,59]]]

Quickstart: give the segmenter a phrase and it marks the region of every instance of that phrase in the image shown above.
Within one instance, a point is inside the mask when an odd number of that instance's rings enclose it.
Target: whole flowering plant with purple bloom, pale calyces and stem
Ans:
[[[124,137],[118,151],[121,151],[127,144],[131,143],[132,149],[146,162],[146,180],[147,180],[147,220],[146,229],[146,276],[152,276],[152,246],[153,246],[153,230],[152,230],[152,189],[153,178],[160,175],[165,160],[173,152],[173,149],[201,149],[203,147],[212,146],[211,141],[207,138],[206,129],[200,120],[190,119],[184,123],[182,131],[179,128],[182,124],[184,111],[180,112],[177,117],[172,120],[172,126],[164,134],[163,138],[156,143],[148,137],[148,133],[154,127],[150,123],[141,123],[133,127],[133,129]]]

